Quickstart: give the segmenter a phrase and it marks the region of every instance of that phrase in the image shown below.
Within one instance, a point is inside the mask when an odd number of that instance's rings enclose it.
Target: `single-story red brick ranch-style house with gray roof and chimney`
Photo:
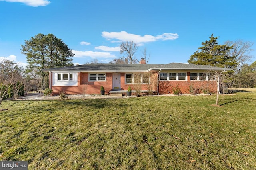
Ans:
[[[182,94],[191,93],[194,88],[200,92],[217,91],[217,78],[214,73],[232,69],[182,64],[84,64],[62,68],[49,68],[49,88],[54,95],[64,91],[66,94],[100,94],[103,86],[105,94],[126,93],[129,86],[134,92],[153,90],[156,94],[171,94],[179,89]]]

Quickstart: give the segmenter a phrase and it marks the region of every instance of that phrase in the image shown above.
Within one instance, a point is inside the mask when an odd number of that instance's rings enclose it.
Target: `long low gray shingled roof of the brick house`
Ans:
[[[224,70],[225,68],[194,64],[84,64],[61,68],[49,68],[42,71],[150,71],[150,70]],[[226,69],[232,70],[232,69]]]

